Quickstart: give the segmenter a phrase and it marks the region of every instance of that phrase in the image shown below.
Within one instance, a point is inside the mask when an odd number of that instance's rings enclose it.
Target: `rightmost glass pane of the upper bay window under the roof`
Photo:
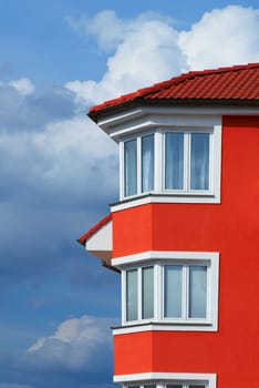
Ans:
[[[190,188],[209,188],[209,133],[191,133]]]

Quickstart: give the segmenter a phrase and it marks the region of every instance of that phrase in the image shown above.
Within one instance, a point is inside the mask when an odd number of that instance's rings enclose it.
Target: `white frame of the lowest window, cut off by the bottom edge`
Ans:
[[[115,375],[114,382],[122,384],[123,388],[132,386],[156,385],[156,388],[166,388],[169,384],[182,384],[184,388],[190,385],[205,385],[205,388],[217,388],[216,374],[180,374],[180,372],[147,372],[134,375]]]

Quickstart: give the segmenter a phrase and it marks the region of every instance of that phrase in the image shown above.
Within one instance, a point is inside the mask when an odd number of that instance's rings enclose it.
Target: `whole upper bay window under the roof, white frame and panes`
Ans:
[[[121,145],[121,200],[220,202],[221,126],[156,129]]]

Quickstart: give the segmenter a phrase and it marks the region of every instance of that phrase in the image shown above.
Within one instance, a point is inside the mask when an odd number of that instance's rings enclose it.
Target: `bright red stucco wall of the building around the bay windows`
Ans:
[[[148,204],[113,214],[114,257],[220,253],[218,333],[116,335],[115,375],[216,372],[218,388],[259,381],[259,118],[224,118],[221,204]]]

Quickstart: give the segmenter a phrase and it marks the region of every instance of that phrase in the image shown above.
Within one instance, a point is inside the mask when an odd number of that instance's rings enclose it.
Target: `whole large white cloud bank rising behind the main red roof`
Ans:
[[[106,37],[105,21],[114,24]],[[122,21],[113,12],[99,13],[90,23],[87,33],[95,33],[101,45],[105,45],[105,38],[118,43],[100,82],[66,83],[77,102],[100,103],[187,70],[259,60],[259,10],[252,8],[229,6],[213,10],[189,31],[177,31],[169,20],[154,13],[124,24],[122,28]],[[123,31],[121,37],[118,31]]]

